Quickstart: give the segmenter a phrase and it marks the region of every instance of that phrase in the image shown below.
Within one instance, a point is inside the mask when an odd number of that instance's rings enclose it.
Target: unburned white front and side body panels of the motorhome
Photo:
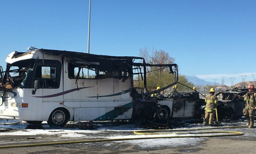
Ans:
[[[70,114],[69,121],[92,121],[131,119],[132,78],[127,80],[117,78],[105,79],[71,79],[68,76],[68,57],[53,55],[41,50],[33,50],[13,58],[15,52],[8,55],[6,62],[13,64],[27,59],[41,59],[43,66],[49,66],[47,61],[54,60],[61,64],[60,83],[58,88],[39,88],[32,94],[34,88],[13,88],[4,95],[3,105],[0,106],[0,118],[25,121],[48,121],[49,115],[55,108],[65,108]],[[79,90],[78,90],[78,88]],[[2,100],[1,100],[2,102]],[[21,107],[28,103],[28,107]],[[115,108],[128,107],[123,113]],[[118,112],[118,113],[116,113]]]

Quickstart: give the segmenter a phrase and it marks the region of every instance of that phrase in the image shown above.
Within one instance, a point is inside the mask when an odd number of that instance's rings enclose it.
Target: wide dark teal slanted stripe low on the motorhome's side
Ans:
[[[110,120],[115,119],[119,115],[123,114],[124,112],[128,111],[133,107],[133,102],[127,103],[120,107],[115,107],[115,109],[107,112],[106,114],[94,119],[93,121],[104,121],[104,120]]]

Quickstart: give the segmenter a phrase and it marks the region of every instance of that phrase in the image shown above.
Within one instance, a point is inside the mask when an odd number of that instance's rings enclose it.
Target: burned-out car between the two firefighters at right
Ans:
[[[243,116],[245,101],[239,99],[239,96],[249,92],[248,88],[233,87],[231,90],[226,90],[216,94],[219,105],[217,106],[219,119],[236,120]]]

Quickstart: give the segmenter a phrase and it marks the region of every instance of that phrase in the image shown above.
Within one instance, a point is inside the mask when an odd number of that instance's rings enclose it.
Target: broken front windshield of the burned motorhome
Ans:
[[[1,90],[12,89],[14,87],[29,87],[29,74],[31,74],[33,67],[34,59],[7,64],[0,86]]]

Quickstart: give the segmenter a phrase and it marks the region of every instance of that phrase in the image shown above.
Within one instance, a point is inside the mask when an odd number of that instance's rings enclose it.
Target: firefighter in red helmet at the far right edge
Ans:
[[[253,128],[254,125],[254,110],[256,110],[256,93],[253,91],[254,86],[249,85],[248,87],[249,92],[247,92],[244,96],[240,96],[240,99],[244,98],[245,108],[243,109],[244,116],[248,123],[246,124],[249,126],[248,128]]]

